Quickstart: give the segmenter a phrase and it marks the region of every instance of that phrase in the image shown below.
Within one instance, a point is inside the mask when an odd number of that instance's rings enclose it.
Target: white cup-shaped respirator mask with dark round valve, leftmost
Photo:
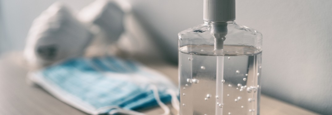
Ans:
[[[32,23],[24,55],[33,67],[50,65],[83,55],[92,37],[69,9],[57,2]]]

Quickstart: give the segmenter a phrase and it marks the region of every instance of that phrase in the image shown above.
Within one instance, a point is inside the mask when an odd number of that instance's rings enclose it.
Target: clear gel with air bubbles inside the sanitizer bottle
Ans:
[[[213,45],[179,50],[180,115],[259,115],[261,51],[247,45],[224,45],[219,56],[210,53]]]

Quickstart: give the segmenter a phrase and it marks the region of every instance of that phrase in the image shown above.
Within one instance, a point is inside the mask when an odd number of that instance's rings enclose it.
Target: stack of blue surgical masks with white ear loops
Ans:
[[[169,108],[163,102],[179,106],[177,88],[169,79],[115,57],[71,59],[31,72],[30,78],[54,97],[89,114],[144,115],[132,110],[159,104],[166,115]]]

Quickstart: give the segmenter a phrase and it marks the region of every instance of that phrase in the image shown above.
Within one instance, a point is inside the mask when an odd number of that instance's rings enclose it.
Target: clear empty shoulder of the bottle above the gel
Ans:
[[[222,43],[227,55],[249,55],[262,51],[263,37],[256,29],[236,23],[227,24],[227,29],[224,27],[204,23],[181,31],[178,34],[179,51],[197,53],[204,50],[199,54],[210,55],[214,53],[214,46],[220,46],[219,43]],[[216,36],[222,36],[223,41],[217,41]]]

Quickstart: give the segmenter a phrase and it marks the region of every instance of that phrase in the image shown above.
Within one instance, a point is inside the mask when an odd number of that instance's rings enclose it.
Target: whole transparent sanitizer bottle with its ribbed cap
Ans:
[[[235,0],[204,0],[178,34],[180,115],[259,115],[262,34],[234,20]]]

